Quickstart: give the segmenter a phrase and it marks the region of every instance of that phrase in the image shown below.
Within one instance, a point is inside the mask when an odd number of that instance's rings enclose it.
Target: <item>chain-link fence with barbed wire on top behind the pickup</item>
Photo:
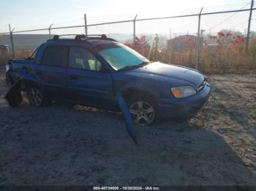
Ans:
[[[244,73],[256,69],[255,9],[251,1],[184,10],[184,15],[168,17],[85,15],[64,22],[72,26],[59,23],[33,30],[10,28],[9,32],[2,33],[0,44],[7,45],[6,49],[10,47],[10,56],[20,58],[29,55],[53,34],[108,34],[152,61],[189,66],[208,73]]]

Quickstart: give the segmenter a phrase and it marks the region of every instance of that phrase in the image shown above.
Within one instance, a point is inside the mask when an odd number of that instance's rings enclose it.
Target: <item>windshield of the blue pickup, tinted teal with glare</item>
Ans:
[[[139,66],[149,62],[148,59],[144,58],[143,55],[140,55],[135,50],[117,43],[114,46],[99,50],[99,54],[102,55],[115,70]]]

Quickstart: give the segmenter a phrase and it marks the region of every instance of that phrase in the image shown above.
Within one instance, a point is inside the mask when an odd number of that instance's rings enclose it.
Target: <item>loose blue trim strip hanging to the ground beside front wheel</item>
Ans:
[[[129,136],[132,138],[132,140],[135,141],[135,144],[138,145],[138,141],[135,133],[135,125],[133,123],[132,115],[130,114],[127,103],[124,100],[121,93],[116,93],[116,101],[118,102],[119,108],[121,109],[121,112],[124,115],[127,132]]]

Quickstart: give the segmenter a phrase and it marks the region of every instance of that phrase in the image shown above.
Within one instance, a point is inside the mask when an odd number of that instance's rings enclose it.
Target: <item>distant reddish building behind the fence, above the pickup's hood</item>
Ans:
[[[183,35],[167,40],[167,48],[171,50],[181,51],[195,47],[197,36]]]

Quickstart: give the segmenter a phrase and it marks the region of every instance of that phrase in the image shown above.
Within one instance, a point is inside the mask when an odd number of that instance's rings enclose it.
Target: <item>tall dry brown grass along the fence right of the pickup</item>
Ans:
[[[256,73],[256,39],[249,44],[249,52],[245,52],[245,42],[225,42],[216,47],[200,48],[200,64],[198,70],[205,74],[255,74]],[[173,63],[195,68],[197,59],[195,44],[187,44],[186,50],[150,50],[149,47],[137,48],[138,52],[151,61]]]

